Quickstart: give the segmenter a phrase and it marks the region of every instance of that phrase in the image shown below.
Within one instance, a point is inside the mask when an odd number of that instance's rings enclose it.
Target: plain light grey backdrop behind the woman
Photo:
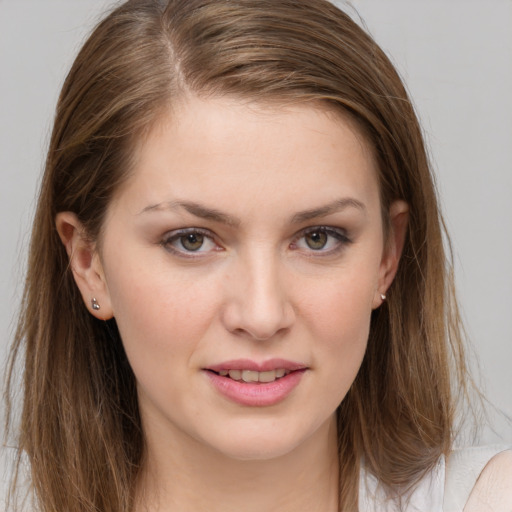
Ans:
[[[512,1],[338,4],[361,16],[407,83],[431,149],[484,389],[512,416]],[[84,37],[112,5],[0,0],[2,360],[58,92]],[[503,415],[494,426],[482,442],[512,442]]]

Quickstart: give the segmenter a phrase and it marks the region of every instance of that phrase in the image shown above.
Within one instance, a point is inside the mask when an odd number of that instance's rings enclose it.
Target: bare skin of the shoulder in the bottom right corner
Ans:
[[[464,512],[512,511],[512,449],[505,450],[485,465]]]

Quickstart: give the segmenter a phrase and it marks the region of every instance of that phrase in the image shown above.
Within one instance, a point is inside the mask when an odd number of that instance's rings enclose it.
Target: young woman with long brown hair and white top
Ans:
[[[99,24],[57,107],[17,354],[36,510],[512,506],[510,451],[452,452],[470,380],[416,116],[323,0]]]

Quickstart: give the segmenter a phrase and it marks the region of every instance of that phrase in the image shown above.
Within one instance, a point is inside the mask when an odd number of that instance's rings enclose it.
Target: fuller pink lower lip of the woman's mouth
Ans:
[[[240,405],[267,407],[283,401],[299,384],[304,370],[295,370],[274,382],[242,382],[206,371],[210,382],[226,398]]]

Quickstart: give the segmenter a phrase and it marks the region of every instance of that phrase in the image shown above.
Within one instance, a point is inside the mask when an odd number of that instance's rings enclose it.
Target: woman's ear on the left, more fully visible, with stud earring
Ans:
[[[55,224],[87,309],[100,320],[112,318],[110,295],[95,242],[87,237],[82,223],[72,212],[58,213]]]

